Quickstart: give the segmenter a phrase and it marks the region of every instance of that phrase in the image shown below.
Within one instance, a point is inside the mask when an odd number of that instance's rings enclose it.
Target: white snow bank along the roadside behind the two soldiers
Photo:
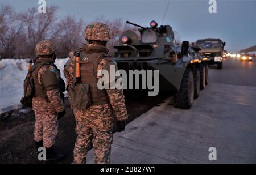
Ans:
[[[69,58],[56,59],[61,77],[65,80],[63,66]],[[28,59],[0,60],[0,114],[8,110],[19,108],[23,95],[23,80],[28,71]]]

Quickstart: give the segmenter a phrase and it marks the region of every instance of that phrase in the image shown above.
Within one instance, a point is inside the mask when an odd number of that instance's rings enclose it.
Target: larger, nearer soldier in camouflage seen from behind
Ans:
[[[80,69],[81,81],[83,82],[84,79],[84,82],[97,82],[101,79],[100,71],[109,67],[109,65],[114,65],[109,59],[108,49],[105,47],[106,42],[110,39],[108,25],[102,23],[88,25],[85,29],[85,39],[88,44],[82,45],[79,52],[85,54],[89,61],[97,62],[97,65],[95,70],[89,67]],[[64,67],[67,86],[75,81],[74,67],[75,56],[71,57],[67,66]],[[85,76],[84,78],[83,75]],[[94,81],[95,79],[97,80]],[[117,119],[118,131],[125,130],[127,111],[122,89],[99,90],[95,88],[97,88],[96,84],[90,84],[92,105],[89,108],[73,108],[77,122],[77,139],[73,151],[73,163],[86,163],[86,154],[89,151],[91,142],[94,148],[95,163],[110,163],[110,151],[113,141],[113,114]]]

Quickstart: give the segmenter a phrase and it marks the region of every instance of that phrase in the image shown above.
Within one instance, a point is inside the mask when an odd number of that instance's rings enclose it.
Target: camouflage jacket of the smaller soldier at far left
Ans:
[[[60,79],[60,72],[57,71],[54,66],[52,65],[42,66],[39,69],[38,75],[37,75],[38,83],[41,86],[43,86],[43,77],[44,77],[44,72],[46,71],[54,72],[57,79]],[[54,114],[54,113],[63,111],[64,103],[63,103],[63,100],[61,99],[59,88],[51,89],[49,91],[46,91],[46,93],[47,93],[48,101],[40,97],[33,98],[32,100],[33,110],[38,113],[46,113],[46,114]]]

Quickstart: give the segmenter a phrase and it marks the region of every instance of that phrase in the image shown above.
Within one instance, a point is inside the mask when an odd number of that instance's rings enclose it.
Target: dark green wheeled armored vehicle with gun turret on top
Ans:
[[[154,20],[150,27],[126,23],[139,27],[140,37],[131,30],[121,34],[113,57],[118,69],[158,70],[159,89],[174,92],[175,107],[191,108],[206,84],[206,59],[192,56],[195,50],[189,48],[188,41],[177,45],[170,25],[158,27]]]

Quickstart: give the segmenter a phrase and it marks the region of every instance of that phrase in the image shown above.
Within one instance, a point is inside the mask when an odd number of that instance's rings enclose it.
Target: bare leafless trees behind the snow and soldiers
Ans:
[[[57,10],[57,6],[49,6],[45,14],[39,14],[35,7],[16,12],[10,5],[1,5],[0,58],[35,58],[36,44],[45,39],[55,44],[57,58],[66,58],[69,52],[79,49],[85,42],[84,29],[90,22],[70,15],[58,19]],[[122,31],[137,31],[121,19],[108,20],[101,16],[94,21],[109,25],[112,37],[107,45],[109,49],[118,44]]]

